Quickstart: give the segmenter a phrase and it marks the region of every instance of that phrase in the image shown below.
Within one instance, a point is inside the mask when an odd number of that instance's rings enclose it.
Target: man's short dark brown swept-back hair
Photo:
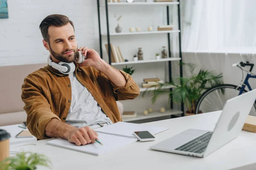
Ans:
[[[50,26],[56,26],[56,27],[61,27],[65,26],[68,23],[70,23],[75,31],[75,27],[72,21],[69,20],[69,18],[65,15],[61,14],[52,14],[44,18],[44,20],[41,22],[39,29],[41,30],[41,34],[48,43],[49,41],[49,34],[48,34],[48,28]]]

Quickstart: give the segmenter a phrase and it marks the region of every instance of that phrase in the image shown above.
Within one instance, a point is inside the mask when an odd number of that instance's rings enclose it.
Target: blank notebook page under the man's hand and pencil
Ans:
[[[137,139],[112,136],[102,133],[98,133],[98,138],[99,142],[101,142],[103,145],[99,144],[98,142],[95,142],[93,144],[76,146],[76,144],[70,143],[66,139],[54,139],[47,142],[47,144],[63,147],[66,149],[76,150],[79,152],[90,153],[92,155],[102,155],[104,153],[108,153],[112,150],[116,150],[120,147],[137,141]]]

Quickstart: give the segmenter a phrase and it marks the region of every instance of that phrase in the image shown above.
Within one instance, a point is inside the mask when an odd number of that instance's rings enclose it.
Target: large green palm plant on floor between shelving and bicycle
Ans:
[[[195,113],[195,107],[197,104],[198,99],[200,98],[201,94],[208,88],[212,86],[222,84],[222,73],[215,74],[214,71],[204,71],[200,70],[198,74],[194,73],[196,68],[195,64],[192,63],[182,63],[182,65],[188,66],[190,76],[189,77],[178,77],[179,83],[175,83],[173,80],[171,82],[160,83],[159,85],[155,85],[154,91],[152,91],[153,96],[151,98],[152,103],[155,103],[157,98],[162,94],[171,94],[169,95],[170,101],[173,101],[177,104],[183,102],[187,108],[187,115]],[[164,89],[164,87],[172,85],[174,86],[172,91],[168,89]],[[143,93],[143,96],[146,90]],[[172,96],[172,98],[171,98]],[[202,111],[200,111],[202,113]]]

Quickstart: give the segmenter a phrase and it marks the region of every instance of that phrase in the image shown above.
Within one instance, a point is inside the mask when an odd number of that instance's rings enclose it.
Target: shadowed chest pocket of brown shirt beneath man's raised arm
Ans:
[[[110,82],[106,77],[100,76],[93,84],[96,86],[99,94],[101,94],[102,99],[106,100],[113,96]]]

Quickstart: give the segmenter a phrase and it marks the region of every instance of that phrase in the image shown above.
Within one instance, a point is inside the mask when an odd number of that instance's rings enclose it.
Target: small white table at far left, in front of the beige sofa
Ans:
[[[10,133],[10,144],[17,144],[17,143],[24,143],[24,142],[35,142],[37,141],[36,137],[32,138],[16,138],[15,136],[20,133],[22,130],[28,130],[23,129],[21,127],[24,127],[23,124],[17,124],[17,125],[9,125],[9,126],[1,126],[0,129],[6,130],[8,133]]]

